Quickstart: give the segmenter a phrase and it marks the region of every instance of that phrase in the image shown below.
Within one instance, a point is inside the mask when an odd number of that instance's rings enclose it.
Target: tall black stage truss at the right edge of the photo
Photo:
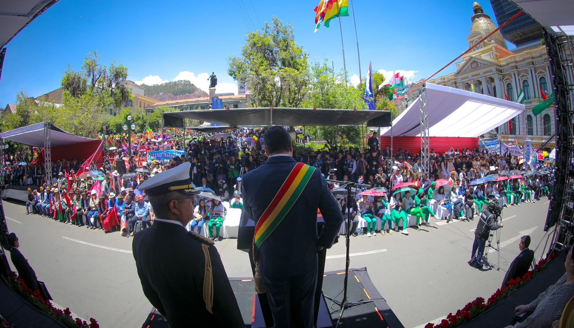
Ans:
[[[549,252],[572,244],[574,231],[574,144],[572,140],[574,99],[574,46],[572,37],[554,37],[544,30],[544,41],[556,110],[556,170],[550,189],[550,205],[544,231],[554,228]]]

